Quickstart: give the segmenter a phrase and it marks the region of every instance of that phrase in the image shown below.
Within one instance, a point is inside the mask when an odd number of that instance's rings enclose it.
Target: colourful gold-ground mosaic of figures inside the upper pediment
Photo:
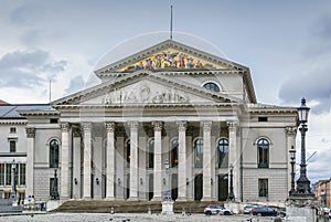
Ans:
[[[211,63],[188,53],[178,50],[168,49],[166,51],[147,56],[136,63],[132,63],[124,68],[121,72],[137,71],[137,70],[218,70],[224,66]]]

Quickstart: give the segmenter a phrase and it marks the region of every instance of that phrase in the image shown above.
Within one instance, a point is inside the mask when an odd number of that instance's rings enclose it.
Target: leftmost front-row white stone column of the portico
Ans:
[[[60,199],[67,200],[70,198],[70,125],[61,123],[62,146],[61,146],[61,186]]]

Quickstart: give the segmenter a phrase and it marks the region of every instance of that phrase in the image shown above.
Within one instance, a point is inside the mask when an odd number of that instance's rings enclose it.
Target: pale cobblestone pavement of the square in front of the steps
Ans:
[[[8,222],[273,222],[274,218],[250,216],[250,215],[159,215],[159,214],[109,214],[109,213],[44,213],[0,216],[0,221]]]

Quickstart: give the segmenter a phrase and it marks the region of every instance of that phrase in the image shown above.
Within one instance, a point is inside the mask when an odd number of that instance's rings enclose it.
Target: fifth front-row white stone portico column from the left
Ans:
[[[161,121],[153,121],[154,127],[154,195],[153,201],[161,201],[162,200],[162,126]]]

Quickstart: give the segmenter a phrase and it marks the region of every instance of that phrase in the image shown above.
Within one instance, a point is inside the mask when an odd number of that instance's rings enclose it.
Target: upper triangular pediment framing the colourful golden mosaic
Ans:
[[[167,40],[147,50],[106,65],[96,75],[106,73],[135,72],[138,70],[185,71],[185,70],[244,70],[245,66],[209,54],[173,40]]]

